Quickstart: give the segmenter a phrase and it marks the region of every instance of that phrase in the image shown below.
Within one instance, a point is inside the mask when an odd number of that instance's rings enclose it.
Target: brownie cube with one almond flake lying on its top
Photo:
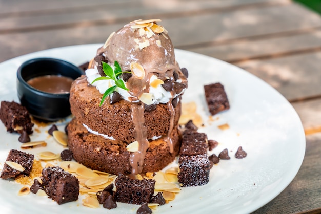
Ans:
[[[18,151],[15,149],[10,150],[6,161],[11,161],[20,164],[24,167],[24,171],[20,172],[14,168],[11,168],[8,164],[4,164],[2,169],[0,178],[8,179],[8,178],[17,178],[21,175],[29,176],[33,164],[34,155],[28,154],[22,151]]]

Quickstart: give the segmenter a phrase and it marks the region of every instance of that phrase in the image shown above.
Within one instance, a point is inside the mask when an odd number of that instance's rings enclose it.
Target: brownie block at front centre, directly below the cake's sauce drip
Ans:
[[[116,191],[114,199],[118,202],[128,204],[149,203],[155,189],[153,179],[131,179],[123,174],[119,174],[115,180]]]

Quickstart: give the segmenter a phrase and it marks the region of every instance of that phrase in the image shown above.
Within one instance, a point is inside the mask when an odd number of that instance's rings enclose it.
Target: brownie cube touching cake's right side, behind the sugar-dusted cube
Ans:
[[[207,154],[207,135],[195,131],[184,132],[179,155],[205,155]]]

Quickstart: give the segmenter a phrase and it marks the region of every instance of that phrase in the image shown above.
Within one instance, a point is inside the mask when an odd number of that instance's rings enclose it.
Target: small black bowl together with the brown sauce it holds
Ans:
[[[17,70],[18,98],[37,119],[63,119],[71,114],[71,83],[82,74],[80,68],[61,59],[30,59]]]

